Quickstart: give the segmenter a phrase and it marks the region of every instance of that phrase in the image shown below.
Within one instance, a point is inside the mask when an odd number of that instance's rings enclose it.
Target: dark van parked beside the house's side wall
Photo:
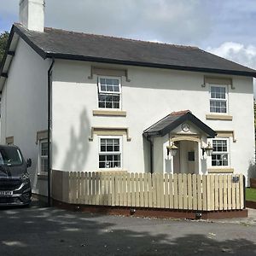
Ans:
[[[0,207],[30,204],[32,189],[26,168],[31,165],[20,148],[0,145]]]

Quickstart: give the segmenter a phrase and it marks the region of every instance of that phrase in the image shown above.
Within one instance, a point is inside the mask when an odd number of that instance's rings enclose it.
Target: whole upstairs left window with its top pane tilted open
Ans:
[[[121,84],[118,78],[98,78],[98,107],[120,108]]]

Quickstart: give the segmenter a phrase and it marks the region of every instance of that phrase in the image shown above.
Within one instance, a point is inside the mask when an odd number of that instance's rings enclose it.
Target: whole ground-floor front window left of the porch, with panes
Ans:
[[[99,168],[121,168],[121,138],[100,137]]]

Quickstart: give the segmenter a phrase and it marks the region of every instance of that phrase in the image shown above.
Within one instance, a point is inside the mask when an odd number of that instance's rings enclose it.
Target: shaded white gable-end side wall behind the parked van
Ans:
[[[38,181],[37,131],[47,129],[47,70],[44,61],[22,39],[9,68],[1,104],[1,143],[14,136],[24,158],[32,159],[28,169],[35,193],[45,195],[47,183]]]

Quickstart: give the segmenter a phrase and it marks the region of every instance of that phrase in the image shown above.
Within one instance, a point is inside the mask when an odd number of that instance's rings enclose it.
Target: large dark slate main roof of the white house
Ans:
[[[190,46],[158,44],[44,28],[32,32],[20,24],[12,27],[44,59],[49,57],[161,67],[208,73],[256,77],[256,71]]]

